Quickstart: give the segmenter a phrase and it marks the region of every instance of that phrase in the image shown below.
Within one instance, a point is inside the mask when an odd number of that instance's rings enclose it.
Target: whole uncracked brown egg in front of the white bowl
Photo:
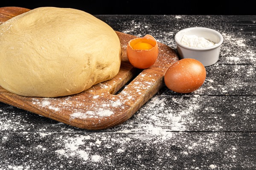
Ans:
[[[177,93],[191,93],[201,85],[206,79],[204,65],[196,59],[180,59],[171,65],[165,75],[166,86]]]

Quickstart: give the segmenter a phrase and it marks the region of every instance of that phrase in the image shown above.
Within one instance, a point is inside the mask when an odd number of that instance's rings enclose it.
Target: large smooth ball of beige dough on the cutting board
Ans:
[[[120,63],[116,32],[84,11],[40,7],[0,25],[0,86],[20,96],[77,94]]]

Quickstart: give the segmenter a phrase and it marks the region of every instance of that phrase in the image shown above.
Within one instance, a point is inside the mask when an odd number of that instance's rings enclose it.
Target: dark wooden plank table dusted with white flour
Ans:
[[[202,26],[224,42],[204,85],[163,87],[134,116],[82,130],[0,102],[0,170],[255,170],[256,16],[96,15],[114,30],[176,48],[177,31]]]

